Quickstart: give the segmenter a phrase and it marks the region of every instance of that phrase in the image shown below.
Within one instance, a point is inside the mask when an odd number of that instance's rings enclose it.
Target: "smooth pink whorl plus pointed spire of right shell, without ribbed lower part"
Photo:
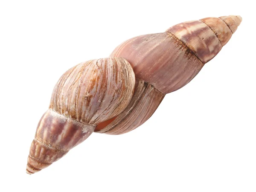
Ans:
[[[179,23],[163,33],[131,38],[111,56],[127,59],[137,79],[170,93],[186,85],[215,57],[240,23],[240,16]]]

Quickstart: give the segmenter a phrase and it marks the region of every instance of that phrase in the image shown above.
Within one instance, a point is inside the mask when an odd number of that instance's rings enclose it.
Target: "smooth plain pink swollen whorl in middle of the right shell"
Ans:
[[[163,94],[188,83],[204,66],[183,42],[167,32],[132,38],[111,54],[118,55],[127,58],[137,79]]]

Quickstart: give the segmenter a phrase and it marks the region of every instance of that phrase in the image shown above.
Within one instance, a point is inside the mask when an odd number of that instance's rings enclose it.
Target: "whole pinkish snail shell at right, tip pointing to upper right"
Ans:
[[[183,22],[166,32],[134,37],[116,47],[110,56],[127,59],[137,86],[128,108],[95,131],[123,134],[142,125],[165,94],[189,83],[218,54],[241,20],[231,15]]]

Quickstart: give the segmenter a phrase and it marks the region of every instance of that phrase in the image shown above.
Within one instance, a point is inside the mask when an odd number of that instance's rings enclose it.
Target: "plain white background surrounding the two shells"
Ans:
[[[72,3],[71,3],[72,2]],[[249,1],[0,1],[0,191],[255,192],[255,12]],[[142,126],[93,133],[34,175],[26,160],[70,67],[187,20],[241,15],[239,29]]]

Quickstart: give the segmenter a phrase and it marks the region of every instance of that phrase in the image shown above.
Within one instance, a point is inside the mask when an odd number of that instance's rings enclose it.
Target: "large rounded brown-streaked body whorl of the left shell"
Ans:
[[[121,113],[135,86],[131,65],[123,58],[91,60],[59,79],[49,108],[79,122],[97,125]]]

